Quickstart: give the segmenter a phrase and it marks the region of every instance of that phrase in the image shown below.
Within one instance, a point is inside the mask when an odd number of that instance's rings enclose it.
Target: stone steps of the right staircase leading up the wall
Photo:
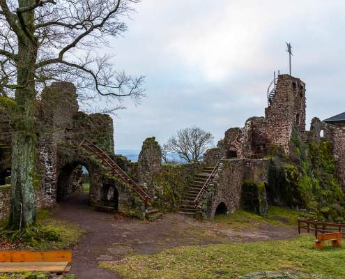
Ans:
[[[206,180],[212,173],[213,168],[214,167],[204,167],[201,173],[194,176],[194,181],[190,184],[190,187],[185,193],[181,206],[178,209],[178,213],[185,216],[194,216],[194,214],[197,213],[194,200],[197,198],[201,188],[204,186]],[[213,183],[214,181],[212,181],[210,185],[212,186]]]

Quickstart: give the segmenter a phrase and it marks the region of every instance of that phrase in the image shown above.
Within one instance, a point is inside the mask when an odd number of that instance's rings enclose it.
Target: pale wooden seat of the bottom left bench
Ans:
[[[56,272],[63,273],[68,262],[1,262],[1,272]]]

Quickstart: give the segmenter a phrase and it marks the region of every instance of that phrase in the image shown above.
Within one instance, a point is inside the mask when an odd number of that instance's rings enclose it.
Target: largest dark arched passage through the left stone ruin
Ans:
[[[90,172],[83,163],[68,163],[59,170],[56,202],[63,202],[73,193],[89,194]]]

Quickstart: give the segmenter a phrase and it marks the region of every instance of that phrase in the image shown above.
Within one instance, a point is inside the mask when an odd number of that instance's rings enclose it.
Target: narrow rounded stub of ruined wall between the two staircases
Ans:
[[[155,137],[148,137],[141,147],[138,157],[138,180],[150,184],[162,169],[162,149]]]

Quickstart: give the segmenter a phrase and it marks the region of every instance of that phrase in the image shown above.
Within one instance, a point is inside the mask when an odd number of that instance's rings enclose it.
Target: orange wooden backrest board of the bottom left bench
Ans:
[[[0,251],[0,262],[72,262],[72,251]]]

